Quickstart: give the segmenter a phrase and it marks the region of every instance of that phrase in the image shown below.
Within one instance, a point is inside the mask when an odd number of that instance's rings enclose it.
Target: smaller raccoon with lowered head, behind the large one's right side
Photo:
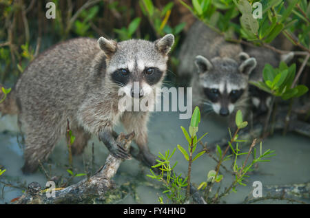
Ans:
[[[180,49],[178,74],[191,78],[194,106],[220,116],[245,111],[248,78],[256,60],[240,60],[243,53],[240,45],[225,41],[204,23],[192,25]]]

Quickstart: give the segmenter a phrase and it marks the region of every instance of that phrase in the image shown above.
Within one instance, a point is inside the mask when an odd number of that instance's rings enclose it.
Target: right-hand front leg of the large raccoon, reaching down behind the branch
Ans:
[[[134,131],[135,137],[134,142],[138,146],[141,155],[144,160],[150,165],[155,164],[156,157],[149,152],[149,147],[147,146],[147,121],[149,120],[148,112],[125,112],[121,117],[123,126],[125,127],[127,133]]]

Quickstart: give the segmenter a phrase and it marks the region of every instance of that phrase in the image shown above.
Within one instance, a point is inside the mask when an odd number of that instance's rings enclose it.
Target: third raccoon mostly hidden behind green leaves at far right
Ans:
[[[245,61],[250,57],[256,58],[257,66],[249,76],[250,82],[262,81],[262,72],[267,63],[272,67],[278,67],[280,61],[289,63],[293,58],[293,52],[287,54],[278,54],[265,47],[244,47],[245,52],[240,55],[240,58]],[[258,89],[258,87],[249,84],[249,96],[251,98],[251,105],[256,116],[266,113],[271,106],[271,94],[266,91]]]

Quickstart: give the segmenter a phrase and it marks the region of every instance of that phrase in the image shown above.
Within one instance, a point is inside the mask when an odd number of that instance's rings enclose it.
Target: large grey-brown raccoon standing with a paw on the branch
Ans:
[[[14,89],[25,133],[23,172],[34,172],[38,161],[46,160],[65,135],[67,120],[76,135],[73,153],[81,153],[94,134],[114,157],[129,158],[114,138],[114,126],[120,120],[128,133],[134,131],[141,154],[153,164],[147,146],[149,113],[120,111],[119,89],[127,90],[126,97],[132,99],[152,95],[165,77],[173,43],[172,34],[154,42],[79,38],[59,43],[35,58]]]

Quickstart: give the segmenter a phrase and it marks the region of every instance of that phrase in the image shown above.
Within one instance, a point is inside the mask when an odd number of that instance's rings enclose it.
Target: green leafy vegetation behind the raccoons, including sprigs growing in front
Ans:
[[[310,67],[310,3],[307,0],[262,0],[262,18],[254,19],[254,3],[258,1],[247,0],[53,0],[56,4],[56,19],[46,19],[45,8],[49,1],[40,0],[1,0],[0,1],[0,83],[6,87],[13,87],[19,75],[24,71],[30,61],[43,50],[74,37],[99,36],[123,41],[132,38],[155,40],[172,33],[176,36],[176,43],[172,49],[169,61],[168,80],[176,83],[178,60],[177,54],[182,39],[186,36],[190,25],[199,19],[214,31],[225,36],[227,41],[241,43],[249,46],[262,46],[279,54],[293,52],[295,54],[293,65],[284,63],[278,68],[266,65],[264,81],[256,85],[282,100],[300,99],[309,87]],[[287,39],[287,43],[278,45],[280,38]],[[263,72],[262,72],[263,73]],[[4,91],[3,91],[4,90]],[[3,89],[6,94],[6,90]],[[309,101],[309,92],[303,95],[304,102]],[[274,101],[274,99],[273,99]],[[293,105],[291,102],[290,105]],[[271,107],[272,109],[272,107]],[[291,109],[288,112],[288,116]],[[198,115],[193,116],[199,117]],[[269,111],[269,116],[271,111]],[[267,122],[269,121],[269,116]],[[309,118],[309,116],[308,116]],[[238,130],[242,129],[242,114],[236,118]],[[186,178],[174,173],[175,165],[170,166],[172,155],[176,151],[160,155],[161,161],[154,168],[160,168],[161,174],[153,179],[163,182],[168,198],[174,203],[183,203],[189,199],[189,184],[191,163],[205,151],[192,156],[196,144],[198,121],[191,122],[189,133],[183,128],[187,138],[188,151],[178,145],[178,150],[183,153],[189,162],[189,171]],[[237,133],[238,133],[237,130]],[[256,155],[256,149],[250,147],[247,153],[238,153],[237,133],[231,136],[229,146],[225,151],[217,149],[218,166],[207,175],[207,181],[200,184],[200,189],[205,190],[205,201],[218,203],[238,184],[243,185],[242,179],[256,162],[261,162],[262,157],[270,157],[273,151]],[[190,136],[189,136],[190,135]],[[71,135],[70,135],[71,136]],[[203,135],[204,136],[204,135]],[[241,142],[241,141],[240,141]],[[234,155],[226,155],[228,149]],[[253,150],[252,150],[253,149]],[[226,156],[225,156],[226,155]],[[253,160],[238,166],[238,155],[253,155]],[[218,174],[221,164],[231,157],[234,161],[232,170],[236,179],[223,193],[210,194],[215,182],[223,179]],[[235,158],[235,159],[234,159]],[[165,174],[164,174],[165,171]],[[0,171],[0,175],[4,171]],[[72,177],[79,176],[68,171]],[[168,174],[167,174],[168,173]],[[185,193],[186,190],[186,193]],[[185,195],[186,194],[186,195]]]

